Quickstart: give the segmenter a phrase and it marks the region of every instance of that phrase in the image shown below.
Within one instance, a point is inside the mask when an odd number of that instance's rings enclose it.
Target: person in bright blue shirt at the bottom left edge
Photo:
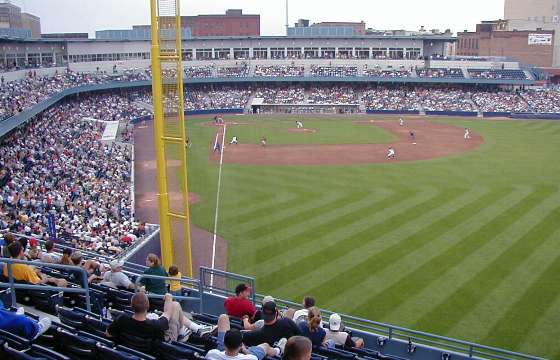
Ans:
[[[21,336],[27,340],[35,340],[51,326],[51,319],[43,317],[39,321],[32,320],[25,314],[8,311],[0,301],[0,329]]]

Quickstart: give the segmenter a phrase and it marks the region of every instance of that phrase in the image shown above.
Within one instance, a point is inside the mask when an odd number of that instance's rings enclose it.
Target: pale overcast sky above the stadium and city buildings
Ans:
[[[0,0],[2,1],[2,0]],[[529,1],[529,0],[527,0]],[[127,29],[149,21],[148,0],[11,0],[41,17],[43,33]],[[285,0],[182,0],[182,15],[243,9],[261,15],[263,35],[284,35]],[[365,21],[375,29],[474,30],[503,17],[504,0],[290,0],[289,22]]]

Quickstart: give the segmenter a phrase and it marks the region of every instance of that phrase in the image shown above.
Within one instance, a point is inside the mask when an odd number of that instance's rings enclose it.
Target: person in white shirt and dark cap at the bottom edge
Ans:
[[[218,348],[210,350],[206,354],[206,359],[211,360],[262,360],[266,356],[280,356],[285,339],[280,341],[278,347],[271,347],[267,343],[250,346],[246,349],[243,346],[244,336],[239,330],[231,330],[227,315],[222,314],[218,318]]]

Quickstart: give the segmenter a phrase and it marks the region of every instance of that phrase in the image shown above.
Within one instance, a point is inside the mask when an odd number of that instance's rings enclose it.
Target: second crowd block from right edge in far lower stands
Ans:
[[[472,99],[482,112],[527,112],[529,105],[519,94],[509,91],[477,91]]]

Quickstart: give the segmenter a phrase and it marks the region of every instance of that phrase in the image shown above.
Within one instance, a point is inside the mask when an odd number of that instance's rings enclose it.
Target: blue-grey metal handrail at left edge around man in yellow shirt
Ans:
[[[91,301],[89,298],[89,284],[88,284],[88,273],[79,266],[72,266],[72,265],[61,265],[61,264],[50,264],[40,261],[28,261],[28,260],[18,260],[18,259],[8,259],[8,258],[0,258],[0,262],[6,263],[8,267],[8,279],[9,283],[6,286],[6,283],[0,282],[0,287],[9,287],[11,289],[11,296],[12,296],[12,303],[16,303],[16,293],[15,289],[28,289],[28,290],[54,290],[59,292],[67,292],[67,293],[83,293],[86,298],[86,307],[88,311],[91,311]],[[73,271],[79,271],[82,274],[82,287],[81,288],[65,288],[59,286],[50,286],[50,285],[29,285],[29,284],[16,284],[14,282],[14,274],[12,265],[13,264],[24,264],[28,266],[44,266],[50,267],[54,269],[68,269]]]

